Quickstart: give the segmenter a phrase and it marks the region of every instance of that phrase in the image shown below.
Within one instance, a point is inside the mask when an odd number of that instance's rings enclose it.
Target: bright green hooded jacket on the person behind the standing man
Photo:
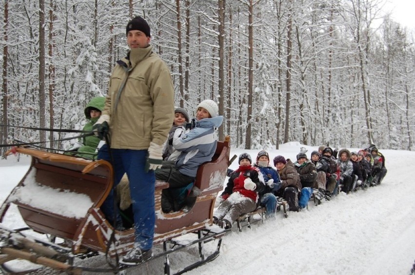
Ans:
[[[83,130],[84,131],[92,131],[92,127],[94,126],[95,122],[98,120],[99,117],[91,118],[91,108],[95,108],[100,110],[101,112],[104,110],[105,105],[105,97],[98,96],[91,99],[91,101],[85,107],[85,117],[89,120],[87,124],[85,124]],[[87,136],[82,138],[81,142],[83,146],[78,148],[78,153],[75,155],[76,157],[81,157],[84,159],[89,160],[96,160],[96,147],[101,140],[97,138],[95,135]],[[83,154],[83,153],[93,153],[93,154]]]

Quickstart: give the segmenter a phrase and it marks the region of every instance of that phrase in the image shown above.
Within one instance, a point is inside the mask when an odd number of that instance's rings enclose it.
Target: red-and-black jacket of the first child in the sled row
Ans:
[[[255,190],[247,190],[244,187],[245,179],[250,178],[256,184]],[[254,202],[258,202],[258,192],[263,192],[265,187],[264,176],[258,167],[254,166],[239,166],[238,169],[232,172],[229,180],[226,183],[222,199],[226,200],[233,192],[238,192],[244,197],[247,197]]]

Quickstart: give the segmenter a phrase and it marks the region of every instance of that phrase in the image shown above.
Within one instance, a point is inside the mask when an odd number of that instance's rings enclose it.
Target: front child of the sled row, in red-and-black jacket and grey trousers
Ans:
[[[251,165],[251,156],[242,153],[239,156],[239,168],[226,184],[218,209],[213,214],[213,222],[226,229],[242,214],[254,211],[259,199],[258,192],[264,189],[264,177],[261,171]]]

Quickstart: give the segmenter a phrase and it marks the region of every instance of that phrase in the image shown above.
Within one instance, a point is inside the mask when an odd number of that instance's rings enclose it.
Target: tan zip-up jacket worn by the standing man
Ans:
[[[169,68],[152,49],[131,49],[114,67],[102,112],[110,116],[112,148],[144,150],[167,139],[174,89]]]

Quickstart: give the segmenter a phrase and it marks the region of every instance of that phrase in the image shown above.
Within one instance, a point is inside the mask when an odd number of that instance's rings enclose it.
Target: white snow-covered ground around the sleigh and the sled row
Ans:
[[[268,152],[271,160],[277,155],[295,160],[300,147],[293,142]],[[304,147],[307,156],[317,149]],[[231,154],[244,151],[254,161],[259,150],[233,149]],[[415,152],[380,151],[388,169],[381,185],[349,195],[341,193],[317,207],[309,202],[308,210],[289,212],[286,219],[282,212],[277,213],[275,220],[245,227],[241,233],[234,228],[223,238],[219,257],[187,274],[408,275],[415,259]],[[24,157],[19,163],[13,156],[0,160],[0,202],[20,181],[28,163]],[[231,168],[237,166],[236,160]],[[3,224],[24,226],[16,208],[8,211]],[[170,257],[172,267],[187,256],[182,253],[178,257]],[[103,263],[102,258],[82,262],[91,266]],[[161,265],[160,260],[151,261],[141,272],[161,274]]]

